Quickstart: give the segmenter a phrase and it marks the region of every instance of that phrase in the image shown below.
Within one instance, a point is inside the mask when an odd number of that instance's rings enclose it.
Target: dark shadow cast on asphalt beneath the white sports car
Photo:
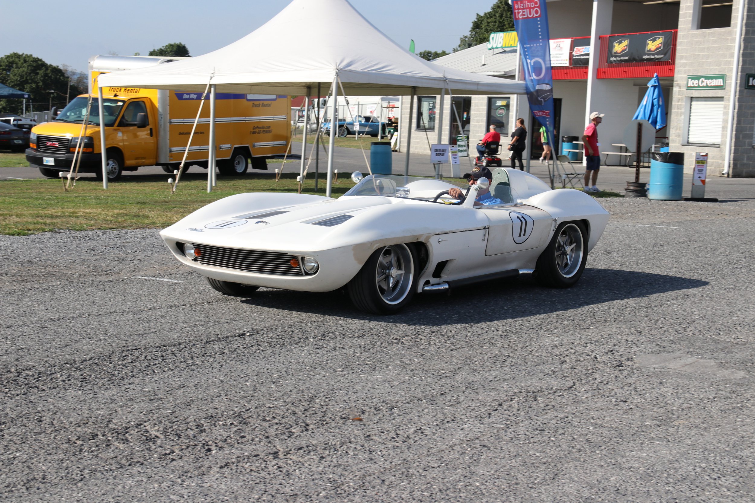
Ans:
[[[541,287],[533,278],[524,275],[514,280],[489,281],[458,288],[451,295],[445,293],[417,295],[405,310],[388,316],[357,311],[343,291],[306,293],[259,290],[254,297],[243,299],[241,302],[282,311],[294,310],[384,323],[439,326],[477,324],[549,314],[605,302],[636,299],[676,290],[690,290],[707,284],[707,281],[680,276],[586,268],[579,283],[572,288]],[[479,313],[481,299],[490,307],[485,311],[484,316],[480,316]]]

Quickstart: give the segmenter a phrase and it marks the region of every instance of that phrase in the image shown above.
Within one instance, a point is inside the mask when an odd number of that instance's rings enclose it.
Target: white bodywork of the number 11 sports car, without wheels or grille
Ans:
[[[590,195],[551,190],[529,173],[508,168],[506,172],[516,204],[471,207],[471,200],[451,205],[382,195],[331,199],[248,193],[208,204],[160,234],[177,259],[208,278],[310,292],[343,287],[375,250],[390,244],[417,243],[427,250],[418,291],[444,281],[531,271],[560,222],[583,220],[589,228],[589,248],[595,246],[609,215]],[[414,180],[407,186],[412,198],[433,198],[454,186],[436,179]],[[264,216],[271,212],[282,213]],[[314,225],[344,215],[350,218],[337,225]],[[285,253],[299,259],[313,256],[319,270],[313,275],[303,270],[301,275],[283,275],[210,265],[184,256],[182,243],[200,249],[205,245],[244,253]],[[444,261],[442,272],[434,277],[436,266]],[[286,271],[297,273],[293,266]]]

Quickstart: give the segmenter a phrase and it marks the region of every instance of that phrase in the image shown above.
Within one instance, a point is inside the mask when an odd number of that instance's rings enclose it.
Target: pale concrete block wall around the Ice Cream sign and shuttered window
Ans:
[[[673,82],[673,97],[670,115],[677,118],[669,127],[669,143],[672,152],[685,153],[685,171],[692,172],[695,152],[708,152],[708,173],[717,175],[723,171],[724,144],[726,143],[726,116],[729,111],[732,79],[732,54],[736,35],[736,12],[738,2],[732,9],[732,26],[729,28],[692,29],[694,0],[681,0],[679,33],[676,42],[676,69]],[[726,74],[726,89],[687,90],[687,75]],[[688,123],[684,120],[689,97],[723,97],[723,127],[720,146],[684,145],[683,138]],[[750,130],[751,132],[751,130]],[[746,134],[746,133],[743,133]],[[752,150],[750,134],[750,151]],[[750,152],[751,153],[751,152]]]

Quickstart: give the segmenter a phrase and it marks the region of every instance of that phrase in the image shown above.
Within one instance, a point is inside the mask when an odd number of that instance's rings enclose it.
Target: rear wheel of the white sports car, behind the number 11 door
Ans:
[[[587,231],[582,222],[562,222],[543,250],[535,278],[546,287],[574,286],[587,263]]]

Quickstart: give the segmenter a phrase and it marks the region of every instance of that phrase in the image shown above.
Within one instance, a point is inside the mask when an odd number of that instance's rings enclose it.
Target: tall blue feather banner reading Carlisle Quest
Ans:
[[[555,145],[553,126],[556,114],[553,111],[553,75],[550,72],[545,0],[513,0],[512,8],[529,107],[532,115],[545,126],[551,145]]]

